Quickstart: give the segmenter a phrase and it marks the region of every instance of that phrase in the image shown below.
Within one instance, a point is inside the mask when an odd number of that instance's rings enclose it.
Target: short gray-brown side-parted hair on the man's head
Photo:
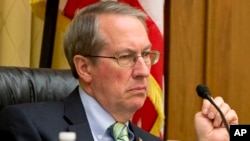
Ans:
[[[76,12],[74,19],[64,35],[64,52],[74,77],[78,78],[73,58],[75,55],[98,55],[105,46],[99,34],[98,15],[118,14],[138,18],[146,28],[146,14],[125,3],[103,1],[87,6]],[[147,29],[147,28],[146,28]],[[96,63],[96,58],[90,58]]]

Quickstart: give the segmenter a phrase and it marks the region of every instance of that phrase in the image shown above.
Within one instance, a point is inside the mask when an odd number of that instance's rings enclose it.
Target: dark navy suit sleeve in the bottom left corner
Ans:
[[[0,113],[0,139],[7,141],[41,141],[30,117],[15,106]]]

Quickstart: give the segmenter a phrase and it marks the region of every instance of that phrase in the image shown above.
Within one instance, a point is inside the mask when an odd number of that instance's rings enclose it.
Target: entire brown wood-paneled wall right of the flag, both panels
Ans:
[[[170,7],[166,138],[195,140],[199,83],[250,124],[250,1],[172,0]]]

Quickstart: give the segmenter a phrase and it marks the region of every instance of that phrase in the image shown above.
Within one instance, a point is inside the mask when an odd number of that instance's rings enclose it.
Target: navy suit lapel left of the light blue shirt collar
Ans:
[[[64,100],[64,108],[69,131],[76,132],[77,140],[94,141],[78,87]]]

